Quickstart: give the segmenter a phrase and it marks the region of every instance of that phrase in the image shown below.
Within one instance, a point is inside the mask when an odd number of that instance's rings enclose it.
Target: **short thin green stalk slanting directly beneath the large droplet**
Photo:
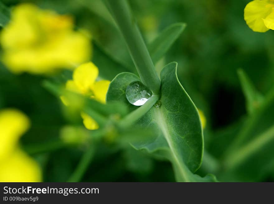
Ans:
[[[132,111],[130,114],[125,116],[119,123],[121,128],[128,128],[138,121],[144,114],[146,114],[151,107],[159,100],[159,95],[152,95],[144,105]]]

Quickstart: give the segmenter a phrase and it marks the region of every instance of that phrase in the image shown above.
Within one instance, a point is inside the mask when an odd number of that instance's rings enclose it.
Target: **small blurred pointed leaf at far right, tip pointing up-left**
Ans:
[[[263,96],[257,92],[256,88],[243,69],[238,70],[238,76],[246,99],[247,111],[249,114],[252,114],[262,103]]]

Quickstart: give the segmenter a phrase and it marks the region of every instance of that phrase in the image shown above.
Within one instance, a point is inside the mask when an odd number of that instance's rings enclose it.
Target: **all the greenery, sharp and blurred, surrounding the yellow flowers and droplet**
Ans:
[[[20,1],[2,2],[1,27]],[[21,146],[43,168],[44,181],[273,181],[274,34],[250,31],[247,2],[129,0],[132,14],[116,8],[115,22],[102,1],[35,1],[72,14],[77,29],[91,33],[92,62],[100,78],[112,80],[101,104],[64,90],[72,71],[13,75],[0,65],[0,107],[30,117]],[[130,104],[131,82],[159,88],[155,64],[160,91],[141,107]],[[76,106],[65,107],[60,96]],[[196,107],[205,113],[204,130]],[[68,144],[60,132],[84,128],[81,111],[100,128]]]

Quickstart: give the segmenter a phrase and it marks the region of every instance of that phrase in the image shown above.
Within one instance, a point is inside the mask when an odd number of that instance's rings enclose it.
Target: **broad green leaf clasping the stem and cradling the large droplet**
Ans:
[[[110,84],[107,102],[119,101],[131,105],[125,97],[125,89],[133,81],[140,80],[131,73],[121,73]],[[154,129],[154,141],[133,144],[136,149],[147,149],[168,158],[177,174],[177,181],[199,181],[193,175],[201,165],[203,135],[198,111],[177,78],[177,63],[170,63],[161,72],[161,107],[152,107],[137,126]],[[210,177],[212,178],[212,177]],[[201,179],[203,180],[203,179]],[[214,179],[212,179],[214,181]]]

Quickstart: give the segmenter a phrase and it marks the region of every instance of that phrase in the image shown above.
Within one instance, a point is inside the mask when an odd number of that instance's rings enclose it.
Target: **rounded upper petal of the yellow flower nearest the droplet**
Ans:
[[[92,62],[77,67],[73,72],[73,81],[82,93],[87,93],[99,74],[98,68]]]

